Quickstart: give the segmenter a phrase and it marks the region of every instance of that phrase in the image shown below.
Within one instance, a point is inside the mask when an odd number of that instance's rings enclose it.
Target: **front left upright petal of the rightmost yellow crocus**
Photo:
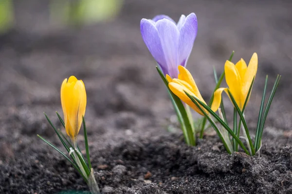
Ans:
[[[241,99],[242,83],[237,68],[230,61],[226,61],[224,71],[226,83],[230,89],[230,92],[235,98],[239,108],[242,109],[245,99]]]

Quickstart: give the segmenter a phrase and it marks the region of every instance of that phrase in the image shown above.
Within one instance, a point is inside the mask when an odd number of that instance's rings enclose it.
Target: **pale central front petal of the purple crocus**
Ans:
[[[168,19],[156,22],[156,28],[160,35],[161,46],[164,51],[168,73],[172,78],[178,77],[178,46],[180,32],[175,23]]]

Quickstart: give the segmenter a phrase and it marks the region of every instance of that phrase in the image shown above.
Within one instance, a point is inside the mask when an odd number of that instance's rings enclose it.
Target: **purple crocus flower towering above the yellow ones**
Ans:
[[[178,66],[186,65],[197,35],[197,26],[194,13],[182,15],[177,24],[165,15],[141,20],[143,40],[164,75],[178,78]]]

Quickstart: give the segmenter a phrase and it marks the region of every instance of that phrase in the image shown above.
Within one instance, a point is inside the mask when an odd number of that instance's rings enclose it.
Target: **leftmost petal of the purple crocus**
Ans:
[[[164,58],[164,51],[162,49],[159,33],[156,27],[148,19],[142,19],[140,23],[140,30],[142,38],[155,61],[160,66],[165,67],[166,62]]]

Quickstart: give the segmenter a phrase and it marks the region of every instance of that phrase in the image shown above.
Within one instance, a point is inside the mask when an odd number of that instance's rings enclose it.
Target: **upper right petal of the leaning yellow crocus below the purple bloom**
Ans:
[[[193,78],[192,74],[185,67],[183,67],[182,65],[179,65],[178,68],[179,68],[179,71],[180,71],[179,79],[187,82],[188,84],[190,84],[191,88],[192,88],[192,92],[194,93],[194,95],[196,97],[198,97],[202,102],[205,103],[205,101],[204,101],[203,97],[201,96],[201,93],[200,93],[200,91],[199,91],[199,89],[197,87],[197,84],[194,81],[194,78]]]

